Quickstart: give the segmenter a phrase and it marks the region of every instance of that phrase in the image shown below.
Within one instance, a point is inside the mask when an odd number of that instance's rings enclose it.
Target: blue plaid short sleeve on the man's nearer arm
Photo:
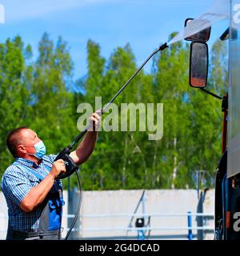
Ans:
[[[18,206],[31,188],[30,181],[18,170],[10,174],[6,173],[2,177],[2,192],[6,198],[10,198]]]

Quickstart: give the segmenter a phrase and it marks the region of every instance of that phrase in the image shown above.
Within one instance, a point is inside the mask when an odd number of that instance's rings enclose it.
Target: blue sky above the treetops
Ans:
[[[38,42],[46,31],[56,42],[68,42],[74,61],[74,78],[86,74],[86,42],[90,38],[109,58],[118,46],[130,43],[138,66],[173,31],[182,30],[186,18],[198,18],[213,0],[0,0],[5,6],[1,39],[19,34],[38,54]],[[212,42],[226,24],[212,28]],[[211,43],[211,42],[210,42]],[[150,70],[146,66],[146,72]]]

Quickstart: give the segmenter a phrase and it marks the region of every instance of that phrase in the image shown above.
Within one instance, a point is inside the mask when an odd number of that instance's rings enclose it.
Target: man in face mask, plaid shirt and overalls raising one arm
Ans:
[[[94,130],[88,131],[70,157],[77,165],[86,162],[94,150],[100,122],[98,111],[90,117]],[[60,239],[62,222],[62,182],[66,172],[62,159],[45,155],[38,134],[19,127],[8,134],[6,144],[15,158],[2,176],[2,192],[8,206],[6,240]]]

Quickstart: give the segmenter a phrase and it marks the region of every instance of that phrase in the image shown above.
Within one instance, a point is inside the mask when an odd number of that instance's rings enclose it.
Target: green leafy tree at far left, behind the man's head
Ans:
[[[19,36],[13,40],[8,38],[0,45],[1,174],[13,160],[6,150],[6,135],[16,126],[25,124],[30,109],[28,105],[30,94],[24,83],[24,74],[27,70],[24,50],[22,39]]]

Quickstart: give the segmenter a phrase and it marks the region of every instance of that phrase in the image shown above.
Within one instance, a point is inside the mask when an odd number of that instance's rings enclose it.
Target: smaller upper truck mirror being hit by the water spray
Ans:
[[[198,42],[207,42],[210,38],[211,26],[210,22],[206,19],[195,19],[186,18],[185,26],[188,26],[190,22],[194,21],[194,26],[208,26],[206,29],[199,31],[196,34],[190,35],[188,38],[185,38],[186,41],[198,41]]]

